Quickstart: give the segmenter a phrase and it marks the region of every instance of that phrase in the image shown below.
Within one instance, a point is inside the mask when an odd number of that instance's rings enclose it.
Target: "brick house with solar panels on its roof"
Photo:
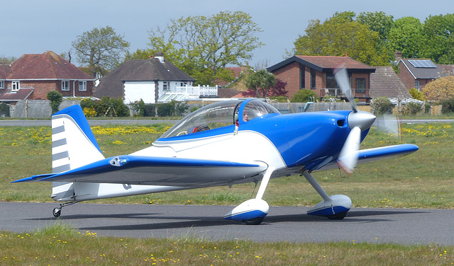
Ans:
[[[448,75],[431,59],[399,59],[397,65],[400,69],[397,76],[409,91],[411,88],[422,91],[427,83]]]

